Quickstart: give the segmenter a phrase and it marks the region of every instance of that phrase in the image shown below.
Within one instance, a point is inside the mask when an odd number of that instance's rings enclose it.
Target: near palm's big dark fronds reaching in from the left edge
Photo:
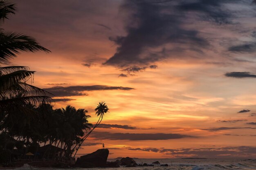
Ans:
[[[15,4],[9,0],[0,0],[0,27],[5,19],[9,19],[10,14],[15,14],[15,11]],[[0,64],[9,62],[22,51],[50,52],[30,36],[0,28]],[[33,79],[33,75],[34,71],[29,71],[26,66],[0,67],[0,109],[13,104],[25,106],[27,103],[50,102],[49,93],[26,83],[28,79]],[[20,93],[23,95],[16,97]]]

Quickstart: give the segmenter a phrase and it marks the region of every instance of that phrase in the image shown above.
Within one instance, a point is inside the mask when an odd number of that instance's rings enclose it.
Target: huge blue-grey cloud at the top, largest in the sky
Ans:
[[[201,52],[201,49],[209,45],[207,40],[199,35],[199,31],[184,28],[184,23],[188,21],[185,14],[192,10],[187,8],[186,4],[180,4],[179,1],[176,3],[172,1],[154,2],[154,0],[125,1],[120,11],[130,14],[125,26],[127,35],[110,37],[118,48],[104,64],[121,67],[132,64],[145,65],[162,60],[169,56],[168,53],[174,51],[184,52],[189,49]],[[213,9],[211,11],[218,10],[219,6],[214,3],[207,3],[205,0],[202,3],[209,7],[208,9]],[[166,49],[164,47],[166,44],[173,44],[178,48]],[[157,52],[150,51],[150,49],[159,49],[159,47],[161,50]]]

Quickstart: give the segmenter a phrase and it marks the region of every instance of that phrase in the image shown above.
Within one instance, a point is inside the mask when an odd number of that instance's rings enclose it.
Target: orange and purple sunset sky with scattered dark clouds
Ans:
[[[4,29],[52,52],[6,65],[90,123],[110,108],[78,156],[104,143],[109,158],[256,157],[256,1],[13,2]]]

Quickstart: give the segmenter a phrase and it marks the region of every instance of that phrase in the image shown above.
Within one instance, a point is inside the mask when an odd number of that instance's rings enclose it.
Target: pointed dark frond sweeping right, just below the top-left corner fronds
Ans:
[[[16,54],[24,52],[44,51],[48,49],[41,46],[36,39],[22,35],[21,33],[2,32],[0,33],[0,63],[16,57]]]

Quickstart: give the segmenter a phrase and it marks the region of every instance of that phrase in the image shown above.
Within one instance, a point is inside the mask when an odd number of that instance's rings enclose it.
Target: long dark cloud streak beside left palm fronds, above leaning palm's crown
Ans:
[[[105,85],[94,85],[94,86],[54,86],[51,88],[44,88],[45,91],[54,94],[58,97],[64,96],[82,96],[88,95],[84,91],[106,91],[106,90],[124,90],[129,91],[134,88],[121,87],[121,86],[105,86]]]

